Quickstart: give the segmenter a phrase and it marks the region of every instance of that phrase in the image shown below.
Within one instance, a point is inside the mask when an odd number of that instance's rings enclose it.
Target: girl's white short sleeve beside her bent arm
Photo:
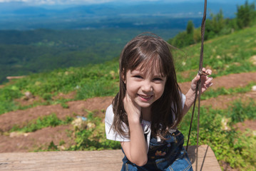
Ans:
[[[114,113],[113,113],[113,107],[112,105],[109,105],[106,110],[106,116],[105,116],[105,130],[106,130],[106,138],[108,140],[116,140],[121,142],[127,142],[130,141],[129,136],[123,136],[116,133],[113,128],[111,128],[111,125],[113,124],[114,120]],[[123,130],[128,132],[128,128],[125,124],[123,124]]]

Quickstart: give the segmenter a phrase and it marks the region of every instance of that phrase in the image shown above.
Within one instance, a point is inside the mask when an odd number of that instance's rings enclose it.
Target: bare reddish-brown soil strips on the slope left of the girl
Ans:
[[[29,152],[34,150],[47,150],[48,145],[53,141],[54,145],[59,145],[60,150],[64,150],[74,144],[73,126],[61,125],[56,128],[43,128],[33,133],[17,135],[6,133],[14,125],[26,125],[31,120],[36,120],[44,115],[56,113],[58,118],[76,115],[86,116],[88,111],[93,111],[98,117],[104,118],[104,113],[113,97],[91,98],[88,100],[77,100],[68,102],[68,108],[61,105],[39,105],[26,110],[16,110],[0,115],[0,152]],[[23,104],[25,104],[24,102]],[[30,102],[29,102],[30,103]]]

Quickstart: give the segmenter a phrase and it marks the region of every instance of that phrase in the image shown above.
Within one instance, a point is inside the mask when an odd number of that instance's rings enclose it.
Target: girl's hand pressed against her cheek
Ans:
[[[128,120],[132,119],[133,121],[140,122],[141,108],[130,98],[128,93],[126,93],[126,97],[123,98],[123,106],[128,115]]]

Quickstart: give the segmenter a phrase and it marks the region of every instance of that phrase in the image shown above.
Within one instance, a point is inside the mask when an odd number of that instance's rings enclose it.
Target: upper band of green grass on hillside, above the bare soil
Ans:
[[[205,41],[204,66],[212,68],[214,78],[230,73],[256,71],[256,67],[249,61],[249,58],[256,53],[255,35],[256,29],[252,27]],[[191,81],[194,78],[198,70],[200,44],[182,50],[173,51],[179,83]],[[192,70],[195,72],[191,72],[188,78],[181,76],[180,72]],[[77,92],[75,100],[116,95],[118,92],[118,58],[86,67],[71,67],[48,73],[32,74],[14,83],[6,84],[4,88],[0,88],[0,113],[21,109],[19,104],[14,103],[14,99],[21,98],[26,91],[41,96],[48,101],[46,103],[48,105],[54,103],[52,100],[54,95],[74,90]],[[226,90],[217,91],[222,91],[220,94],[223,94]]]

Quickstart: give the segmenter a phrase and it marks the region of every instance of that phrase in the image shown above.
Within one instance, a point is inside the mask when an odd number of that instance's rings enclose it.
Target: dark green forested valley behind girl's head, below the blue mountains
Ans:
[[[0,83],[57,68],[103,63],[119,56],[123,46],[145,29],[0,31]],[[180,29],[151,30],[166,40]]]

